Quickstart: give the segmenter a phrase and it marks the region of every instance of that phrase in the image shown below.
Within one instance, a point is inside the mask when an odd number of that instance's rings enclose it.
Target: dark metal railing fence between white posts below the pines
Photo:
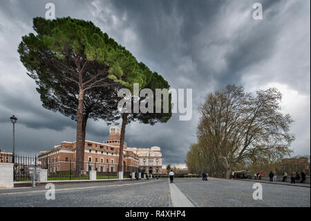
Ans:
[[[37,156],[22,154],[1,154],[0,163],[14,162],[14,181],[31,181],[32,172],[36,169],[46,169],[48,180],[89,179],[89,171],[95,170],[97,179],[117,179],[117,163],[102,163],[93,161],[70,161],[59,159],[38,159]],[[81,173],[77,173],[77,167]],[[122,166],[123,177],[130,178],[132,172],[138,177],[140,172],[135,166]]]

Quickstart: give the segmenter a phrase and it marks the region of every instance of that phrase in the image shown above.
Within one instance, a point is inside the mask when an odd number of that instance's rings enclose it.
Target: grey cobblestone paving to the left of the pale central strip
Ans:
[[[39,186],[35,189],[19,188],[1,190],[0,206],[135,207],[170,206],[171,204],[167,179],[155,179],[143,182],[66,184],[55,185],[55,188],[55,200],[46,200],[44,186]],[[15,194],[12,194],[12,192],[15,192]]]

